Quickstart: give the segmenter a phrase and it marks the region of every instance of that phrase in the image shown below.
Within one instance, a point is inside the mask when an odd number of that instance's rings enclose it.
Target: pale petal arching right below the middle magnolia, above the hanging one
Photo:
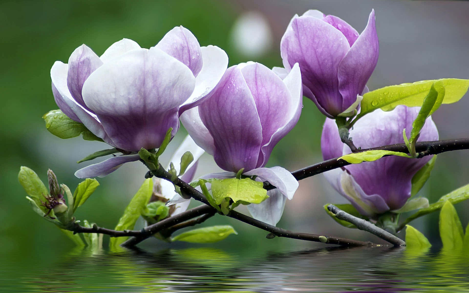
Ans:
[[[256,175],[262,181],[269,181],[270,184],[279,189],[288,199],[293,198],[298,188],[298,181],[295,177],[286,169],[278,166],[272,168],[257,168],[249,172],[244,172],[243,175]]]

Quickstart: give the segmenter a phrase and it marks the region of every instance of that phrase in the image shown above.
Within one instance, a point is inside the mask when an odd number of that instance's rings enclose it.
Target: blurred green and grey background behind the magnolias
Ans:
[[[280,38],[288,21],[307,9],[320,9],[337,15],[359,32],[366,25],[371,8],[376,10],[380,59],[368,86],[381,86],[442,77],[469,78],[467,48],[469,38],[465,1],[280,1],[280,0],[173,0],[173,1],[1,1],[1,77],[0,115],[1,176],[0,248],[1,257],[31,255],[47,258],[54,250],[73,247],[56,227],[36,215],[25,200],[17,181],[21,165],[35,170],[45,181],[48,168],[72,190],[80,180],[74,173],[83,165],[76,161],[96,150],[102,143],[81,138],[61,140],[47,132],[41,116],[56,109],[51,92],[50,68],[55,60],[68,62],[81,44],[98,55],[113,42],[131,38],[142,47],[151,47],[174,26],[191,30],[201,45],[218,45],[229,56],[229,65],[255,60],[268,67],[281,66]],[[248,29],[246,29],[248,28]],[[243,44],[242,40],[247,40]],[[456,105],[444,105],[434,114],[440,138],[469,135],[468,96]],[[320,132],[324,117],[315,105],[304,99],[303,113],[296,128],[274,149],[269,166],[281,165],[296,170],[321,160]],[[182,129],[171,143],[182,140]],[[167,151],[170,153],[170,151]],[[436,168],[421,195],[430,202],[468,183],[467,151],[439,156]],[[170,155],[170,154],[166,154]],[[201,175],[218,169],[210,156],[202,158]],[[139,185],[145,170],[138,163],[125,165],[106,178],[88,202],[77,211],[80,219],[113,228]],[[376,240],[366,233],[343,228],[322,210],[325,203],[345,203],[325,182],[322,175],[300,182],[295,198],[287,207],[279,226],[289,230],[327,233],[362,240]],[[468,203],[458,204],[465,225]],[[436,216],[436,215],[435,215]],[[438,243],[438,219],[418,220],[416,226],[432,242]],[[266,240],[265,232],[217,216],[209,224],[229,223],[239,232],[215,246],[226,249],[249,247],[253,250],[318,247],[299,240]],[[141,225],[141,223],[140,223]],[[184,244],[176,244],[184,246]],[[167,247],[147,240],[145,247]],[[190,246],[190,245],[186,245]]]

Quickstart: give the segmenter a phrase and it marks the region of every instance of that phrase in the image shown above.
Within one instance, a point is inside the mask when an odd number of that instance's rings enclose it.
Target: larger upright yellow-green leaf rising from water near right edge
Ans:
[[[454,209],[453,204],[449,201],[445,202],[441,208],[439,231],[441,242],[443,242],[443,249],[462,250],[464,232],[458,213],[456,209]]]

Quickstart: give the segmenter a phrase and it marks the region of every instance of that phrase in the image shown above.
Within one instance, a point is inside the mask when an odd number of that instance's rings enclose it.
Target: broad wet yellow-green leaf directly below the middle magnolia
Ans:
[[[262,203],[267,197],[264,183],[250,178],[237,179],[213,179],[212,195],[216,204],[220,204],[225,197],[229,197],[234,203],[244,201],[247,203]]]

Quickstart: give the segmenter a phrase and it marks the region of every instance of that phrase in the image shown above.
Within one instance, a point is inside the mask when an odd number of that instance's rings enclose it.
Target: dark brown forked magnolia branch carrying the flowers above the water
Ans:
[[[416,151],[418,152],[417,153],[418,158],[422,158],[428,155],[436,155],[436,154],[446,152],[446,151],[467,150],[467,149],[469,149],[469,138],[416,143]],[[381,146],[377,148],[358,150],[358,152],[367,151],[367,150],[391,150],[391,151],[407,152],[407,147],[404,143],[398,143],[398,144]],[[294,171],[292,172],[292,174],[293,176],[295,176],[296,180],[302,180],[302,179],[305,179],[305,178],[308,178],[308,177],[311,177],[320,173],[324,173],[329,170],[340,168],[346,165],[350,165],[350,163],[348,163],[347,161],[341,160],[339,158],[333,158],[333,159],[326,160],[324,162],[321,162],[315,165],[310,165],[303,169]],[[166,172],[161,166],[159,170],[155,170],[153,171],[153,173],[155,176],[159,178],[171,180],[171,174]],[[74,233],[101,233],[101,234],[109,235],[111,237],[131,236],[132,238],[130,238],[129,240],[127,240],[126,242],[122,244],[122,246],[129,247],[129,246],[134,246],[140,243],[141,241],[151,237],[153,234],[164,231],[165,229],[167,229],[166,233],[173,233],[174,231],[182,229],[183,227],[200,224],[206,218],[210,218],[214,213],[216,213],[216,210],[212,206],[210,206],[210,204],[208,203],[204,195],[198,192],[196,189],[192,188],[189,184],[187,184],[186,182],[180,179],[177,179],[174,182],[174,184],[179,186],[181,188],[181,192],[185,194],[187,197],[192,197],[196,199],[197,201],[204,203],[205,205],[201,205],[199,207],[186,210],[176,216],[163,219],[156,224],[149,225],[143,228],[140,231],[133,231],[133,230],[115,231],[111,229],[98,227],[97,225],[94,225],[91,228],[87,228],[87,227],[80,226],[78,224],[70,230],[73,231]],[[275,187],[272,186],[269,182],[264,182],[264,188],[273,189]],[[317,242],[344,245],[344,246],[375,246],[376,245],[371,242],[350,240],[350,239],[345,239],[345,238],[340,238],[340,237],[292,232],[292,231],[288,231],[288,230],[278,228],[272,225],[268,225],[264,222],[258,221],[254,218],[250,218],[246,215],[238,213],[234,210],[231,211],[227,216],[240,220],[249,225],[256,226],[265,231],[268,231],[272,233],[272,235],[277,236],[277,237],[287,237],[287,238],[300,239],[300,240],[317,241]],[[352,224],[355,225],[355,223],[352,223]],[[372,225],[372,226],[375,226],[375,225]],[[365,231],[368,231],[368,230],[365,230]],[[382,236],[378,235],[379,233],[374,233],[374,234],[382,238]],[[385,238],[382,238],[382,239],[386,240]]]

